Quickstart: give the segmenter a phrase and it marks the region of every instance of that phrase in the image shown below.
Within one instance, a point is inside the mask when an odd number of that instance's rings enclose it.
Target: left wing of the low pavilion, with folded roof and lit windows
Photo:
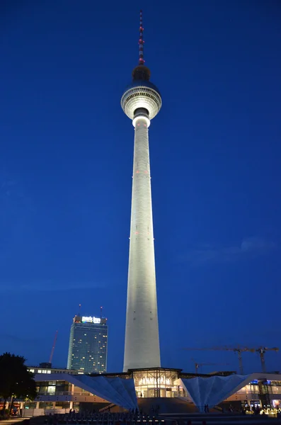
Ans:
[[[127,377],[114,379],[98,374],[91,377],[84,374],[72,374],[73,370],[63,373],[37,373],[35,382],[38,396],[33,401],[25,401],[25,407],[34,416],[50,413],[90,412],[101,408],[117,406],[122,409],[136,409],[137,396],[134,381]],[[29,412],[28,412],[29,413]],[[25,412],[25,416],[27,416]]]

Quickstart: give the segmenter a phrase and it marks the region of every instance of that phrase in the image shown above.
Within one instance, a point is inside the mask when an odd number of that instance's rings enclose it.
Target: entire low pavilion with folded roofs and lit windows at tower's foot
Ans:
[[[105,407],[135,409],[144,412],[155,403],[172,411],[194,412],[218,407],[228,411],[245,409],[280,409],[280,373],[251,373],[236,375],[233,372],[217,372],[210,375],[184,373],[180,369],[147,368],[128,370],[123,373],[84,375],[76,370],[38,367],[34,370],[38,396],[33,402],[16,400],[34,415],[51,412],[64,413],[93,411]],[[156,401],[157,397],[157,401]],[[1,403],[0,403],[1,404]]]

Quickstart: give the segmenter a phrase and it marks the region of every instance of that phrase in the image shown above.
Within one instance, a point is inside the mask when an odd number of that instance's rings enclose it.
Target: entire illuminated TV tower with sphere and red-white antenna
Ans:
[[[125,372],[160,367],[148,128],[162,101],[159,90],[149,81],[149,68],[144,65],[143,33],[140,11],[139,64],[121,98],[122,109],[134,126]]]

